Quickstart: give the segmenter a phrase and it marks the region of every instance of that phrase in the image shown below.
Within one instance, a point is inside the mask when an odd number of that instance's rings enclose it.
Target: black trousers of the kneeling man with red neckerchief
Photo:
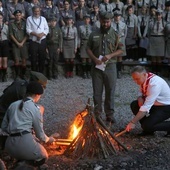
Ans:
[[[133,101],[130,106],[133,114],[136,115],[139,111],[138,101]],[[170,121],[165,121],[168,118],[170,118],[170,105],[152,106],[149,116],[140,120],[141,127],[145,132],[170,131]]]

